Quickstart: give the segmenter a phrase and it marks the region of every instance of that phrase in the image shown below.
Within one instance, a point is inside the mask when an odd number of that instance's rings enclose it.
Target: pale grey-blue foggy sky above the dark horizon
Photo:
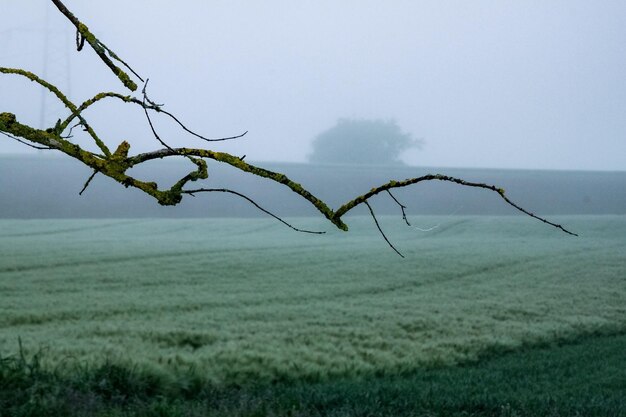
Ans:
[[[91,49],[76,52],[51,2],[0,5],[0,66],[46,73],[77,103],[124,92]],[[305,161],[311,140],[337,119],[368,118],[395,119],[425,142],[404,155],[411,165],[626,169],[623,0],[66,5],[189,127],[248,130],[211,146],[249,160]],[[38,125],[41,103],[36,85],[0,76],[0,112]],[[53,100],[44,103],[48,120],[60,117]],[[161,147],[139,108],[103,104],[86,116],[111,147],[123,139],[136,152]],[[204,146],[156,122],[172,146]],[[29,151],[0,137],[1,153]]]

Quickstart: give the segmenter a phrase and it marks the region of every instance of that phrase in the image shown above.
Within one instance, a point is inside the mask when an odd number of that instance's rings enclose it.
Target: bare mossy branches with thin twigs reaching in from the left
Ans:
[[[187,128],[178,117],[173,115],[172,113],[166,111],[163,108],[162,104],[157,104],[155,101],[151,100],[147,94],[147,86],[148,79],[142,78],[139,74],[134,71],[126,62],[124,62],[117,54],[115,54],[109,47],[107,47],[102,41],[100,41],[90,30],[89,28],[80,21],[74,14],[67,9],[67,7],[60,0],[51,0],[52,3],[57,7],[57,9],[67,17],[67,19],[74,25],[76,28],[76,46],[77,50],[81,51],[87,43],[97,54],[100,60],[113,72],[113,74],[120,80],[120,82],[124,85],[125,88],[130,90],[131,92],[135,92],[138,90],[137,81],[143,84],[141,89],[141,94],[139,96],[133,96],[129,94],[122,94],[118,92],[101,92],[96,94],[94,97],[91,97],[85,100],[82,104],[76,105],[71,102],[67,96],[60,91],[57,87],[52,85],[46,80],[41,79],[37,75],[32,72],[23,70],[23,69],[15,69],[15,68],[4,68],[0,67],[0,73],[7,75],[17,75],[20,77],[25,77],[30,81],[39,84],[41,87],[45,88],[53,94],[58,100],[60,100],[63,105],[68,109],[69,114],[64,120],[59,120],[54,126],[50,126],[47,129],[36,129],[27,124],[20,123],[17,117],[12,113],[0,113],[0,133],[3,133],[5,136],[8,136],[11,139],[19,141],[25,145],[35,147],[37,149],[45,149],[52,151],[60,151],[65,153],[66,155],[77,159],[82,162],[86,166],[90,167],[93,170],[93,174],[87,179],[85,185],[81,191],[81,193],[88,187],[91,179],[97,175],[102,174],[106,175],[125,187],[134,187],[137,188],[146,194],[154,197],[159,204],[162,205],[176,205],[180,203],[183,196],[186,195],[195,195],[205,192],[222,192],[222,193],[230,193],[233,195],[237,195],[241,198],[246,199],[253,205],[255,205],[260,210],[266,212],[267,214],[273,216],[278,219],[285,225],[291,227],[292,229],[308,232],[308,233],[323,233],[323,232],[315,232],[298,229],[279,216],[270,213],[269,211],[262,208],[258,203],[250,199],[249,197],[231,189],[224,188],[190,188],[189,184],[193,183],[200,179],[208,178],[208,170],[207,170],[207,161],[216,161],[224,164],[231,165],[234,168],[237,168],[243,172],[257,175],[263,178],[266,178],[271,181],[275,181],[277,183],[283,184],[285,187],[289,188],[292,192],[298,194],[300,197],[307,200],[311,203],[326,219],[328,219],[333,225],[338,227],[341,230],[348,230],[348,226],[343,221],[343,216],[351,211],[353,208],[358,205],[364,204],[370,210],[370,213],[378,227],[378,230],[383,235],[385,240],[389,243],[389,245],[396,250],[393,245],[389,242],[387,237],[384,235],[382,229],[378,225],[376,221],[376,217],[374,215],[374,211],[368,203],[368,200],[380,193],[386,192],[392,198],[391,190],[394,188],[406,187],[408,185],[417,184],[423,181],[447,181],[456,183],[459,185],[467,186],[467,187],[475,187],[482,188],[486,190],[493,191],[500,195],[500,197],[509,205],[516,208],[517,210],[531,216],[535,219],[538,219],[546,224],[554,226],[565,233],[574,235],[574,233],[566,230],[561,225],[552,223],[542,217],[539,217],[524,208],[518,206],[513,203],[506,195],[502,188],[496,187],[495,185],[489,185],[484,183],[476,183],[465,181],[460,178],[454,178],[446,175],[440,174],[429,174],[416,178],[409,178],[402,181],[389,181],[383,185],[370,189],[363,195],[360,195],[356,198],[353,198],[340,206],[339,208],[333,210],[331,209],[324,201],[320,200],[312,193],[307,191],[302,185],[292,181],[286,175],[273,172],[267,170],[262,167],[258,167],[252,164],[248,164],[244,161],[243,157],[231,155],[225,152],[216,152],[210,149],[205,148],[193,148],[193,147],[182,147],[182,148],[173,148],[169,146],[165,140],[163,140],[158,132],[156,131],[152,119],[152,115],[160,115],[164,117],[169,117],[173,119],[176,123],[178,123],[182,130],[187,132],[188,134],[201,139],[206,142],[212,141],[223,141],[223,140],[232,140],[236,139],[239,136],[229,137],[229,138],[218,138],[211,139],[205,136],[202,136],[189,128]],[[126,68],[127,73],[121,67]],[[88,108],[95,106],[99,102],[103,100],[119,100],[123,103],[127,103],[131,106],[134,106],[140,109],[146,116],[146,121],[150,132],[154,136],[155,141],[160,144],[161,148],[156,149],[151,152],[139,153],[135,155],[130,154],[130,142],[122,141],[117,144],[114,151],[111,151],[107,142],[102,139],[102,137],[89,125],[87,119],[83,116],[83,113]],[[98,147],[99,152],[91,152],[83,147],[81,147],[78,143],[72,141],[72,130],[74,128],[80,127],[91,137],[95,145]],[[245,133],[244,133],[245,134]],[[159,188],[158,184],[152,181],[141,180],[131,176],[128,173],[128,170],[132,167],[135,167],[139,164],[146,163],[148,161],[152,161],[155,159],[162,159],[168,157],[181,157],[186,158],[193,165],[193,170],[188,174],[178,179],[170,188]],[[404,213],[404,206],[398,202],[395,198],[394,201],[398,203]],[[396,250],[398,254],[398,252]],[[401,254],[400,254],[401,255]],[[401,255],[402,256],[402,255]]]

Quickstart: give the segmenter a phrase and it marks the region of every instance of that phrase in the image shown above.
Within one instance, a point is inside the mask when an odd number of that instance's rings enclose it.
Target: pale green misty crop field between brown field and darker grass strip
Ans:
[[[524,217],[412,220],[434,228],[380,219],[405,259],[367,217],[349,233],[290,219],[325,235],[259,219],[1,220],[0,355],[19,337],[68,378],[118,364],[174,385],[403,386],[420,369],[626,332],[624,216],[557,219],[578,238]]]

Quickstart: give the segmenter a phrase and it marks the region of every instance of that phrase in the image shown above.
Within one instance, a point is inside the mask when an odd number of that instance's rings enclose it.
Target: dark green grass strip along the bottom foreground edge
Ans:
[[[526,349],[465,366],[331,381],[214,386],[104,364],[61,373],[0,360],[0,416],[626,415],[626,335]]]

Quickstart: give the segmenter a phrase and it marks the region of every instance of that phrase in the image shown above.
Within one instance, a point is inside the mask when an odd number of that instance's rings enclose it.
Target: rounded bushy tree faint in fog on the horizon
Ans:
[[[403,164],[402,152],[421,146],[394,120],[339,119],[317,135],[309,161],[331,164]]]

